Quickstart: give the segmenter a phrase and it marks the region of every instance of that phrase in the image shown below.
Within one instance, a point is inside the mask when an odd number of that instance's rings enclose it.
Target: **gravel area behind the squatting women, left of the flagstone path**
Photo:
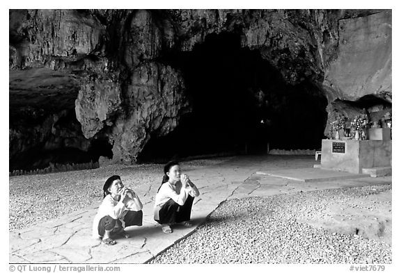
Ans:
[[[212,158],[182,162],[182,169],[216,165],[230,158]],[[163,165],[109,165],[53,174],[10,176],[9,179],[9,231],[23,229],[40,221],[54,219],[86,208],[103,198],[104,181],[113,175],[121,176],[130,188],[144,185],[159,187]],[[143,191],[138,192],[143,194]]]

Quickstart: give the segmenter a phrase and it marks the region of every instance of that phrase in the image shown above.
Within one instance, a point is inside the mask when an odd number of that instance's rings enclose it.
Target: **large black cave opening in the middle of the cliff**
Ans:
[[[288,85],[239,35],[210,34],[159,62],[180,69],[193,110],[170,134],[150,138],[139,162],[320,147],[327,100],[308,82]]]

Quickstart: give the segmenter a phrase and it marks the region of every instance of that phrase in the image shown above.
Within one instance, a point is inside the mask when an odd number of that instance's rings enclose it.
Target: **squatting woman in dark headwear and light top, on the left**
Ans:
[[[93,237],[102,238],[102,243],[115,245],[111,235],[129,235],[127,226],[142,226],[142,203],[133,190],[125,188],[120,176],[113,175],[103,185],[104,199],[93,220]]]

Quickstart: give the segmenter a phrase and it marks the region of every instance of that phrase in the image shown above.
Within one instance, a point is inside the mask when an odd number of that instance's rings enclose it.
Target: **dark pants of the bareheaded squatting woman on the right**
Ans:
[[[192,203],[194,203],[194,197],[188,196],[183,206],[178,205],[169,199],[166,204],[159,210],[159,220],[156,220],[159,224],[174,224],[184,221],[189,221],[191,218]]]

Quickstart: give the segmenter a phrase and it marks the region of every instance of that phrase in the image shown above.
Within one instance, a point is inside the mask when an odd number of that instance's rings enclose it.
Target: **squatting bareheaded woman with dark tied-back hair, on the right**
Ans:
[[[196,185],[187,174],[181,174],[178,162],[164,166],[162,185],[155,198],[155,221],[162,224],[164,233],[172,233],[172,224],[191,226],[192,203],[199,196]]]

